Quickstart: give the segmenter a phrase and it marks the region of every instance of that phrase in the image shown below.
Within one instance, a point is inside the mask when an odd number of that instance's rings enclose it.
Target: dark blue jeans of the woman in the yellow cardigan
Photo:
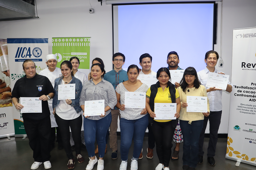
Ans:
[[[198,160],[199,136],[203,128],[204,120],[188,121],[179,120],[183,134],[183,165],[196,168]]]

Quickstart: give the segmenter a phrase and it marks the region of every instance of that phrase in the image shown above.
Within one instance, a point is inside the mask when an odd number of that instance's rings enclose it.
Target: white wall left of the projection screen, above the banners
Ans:
[[[38,19],[1,21],[1,38],[91,37],[90,62],[100,57],[105,70],[112,70],[112,6],[91,0],[44,0],[37,2]],[[110,59],[111,58],[111,59]]]

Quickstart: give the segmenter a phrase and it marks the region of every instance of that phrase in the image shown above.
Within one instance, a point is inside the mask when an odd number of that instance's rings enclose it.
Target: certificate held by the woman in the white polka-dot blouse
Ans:
[[[146,93],[141,92],[129,92],[126,91],[124,95],[125,108],[140,108],[146,107]]]

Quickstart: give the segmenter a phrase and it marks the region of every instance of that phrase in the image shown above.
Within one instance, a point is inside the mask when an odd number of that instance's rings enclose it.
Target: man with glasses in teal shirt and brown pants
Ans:
[[[121,82],[127,81],[127,71],[122,69],[122,66],[124,65],[125,56],[122,53],[115,53],[112,57],[112,62],[114,64],[114,69],[107,72],[104,75],[104,80],[110,82],[114,89],[117,85],[119,85]],[[109,128],[109,145],[112,149],[111,158],[117,159],[117,135],[116,130],[118,128],[118,116],[119,119],[121,118],[120,111],[117,107],[114,107],[114,110],[111,110],[112,115],[112,122],[110,124]]]

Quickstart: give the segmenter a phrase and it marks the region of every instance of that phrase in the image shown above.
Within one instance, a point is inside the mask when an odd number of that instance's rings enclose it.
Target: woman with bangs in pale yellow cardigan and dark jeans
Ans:
[[[193,170],[196,168],[198,159],[198,141],[204,124],[204,116],[209,116],[210,105],[207,98],[207,113],[187,112],[187,96],[207,97],[205,86],[198,81],[194,67],[188,67],[184,71],[180,86],[177,88],[182,104],[180,110],[180,128],[183,133],[183,170]]]

